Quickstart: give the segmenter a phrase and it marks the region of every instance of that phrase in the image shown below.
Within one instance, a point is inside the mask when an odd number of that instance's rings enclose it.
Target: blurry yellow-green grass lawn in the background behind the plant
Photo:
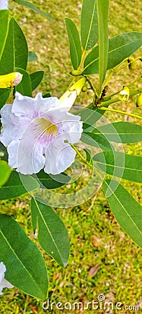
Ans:
[[[54,22],[45,17],[34,14],[31,10],[10,1],[11,15],[20,23],[29,49],[36,52],[38,61],[29,64],[29,72],[45,70],[44,80],[37,91],[48,91],[52,96],[61,96],[71,82],[71,63],[69,61],[68,39],[64,27],[64,16],[73,19],[79,25],[79,1],[39,1],[33,0],[41,10],[46,10],[55,18]],[[141,0],[127,2],[110,1],[110,35],[115,36],[125,31],[141,31]],[[23,22],[23,18],[27,19]],[[140,70],[139,70],[140,73]],[[134,73],[131,74],[134,77]],[[125,78],[132,80],[129,71],[127,76],[120,75],[117,80],[111,81],[111,90],[121,88]],[[36,94],[36,93],[35,93]],[[85,98],[84,98],[85,97]],[[91,94],[81,96],[78,103],[89,103]],[[117,107],[115,105],[115,107]],[[135,110],[135,103],[129,102],[120,105],[123,110]],[[139,109],[141,114],[141,109]],[[111,121],[125,120],[121,115],[106,114]],[[129,121],[132,121],[130,118]],[[139,122],[139,121],[137,121]],[[141,154],[141,144],[125,145],[128,154]],[[136,200],[141,201],[142,186],[123,181]],[[83,187],[84,181],[80,179],[78,189]],[[64,188],[63,188],[64,190]],[[62,188],[60,189],[62,193]],[[17,210],[17,221],[24,227],[25,232],[33,239],[30,216],[30,197],[24,195],[17,200],[3,202]],[[66,269],[59,267],[56,262],[43,252],[50,279],[49,298],[55,302],[97,301],[97,296],[103,293],[108,301],[121,302],[125,305],[142,304],[141,297],[141,249],[132,242],[116,222],[102,190],[80,206],[57,209],[57,214],[62,218],[69,232],[71,253]],[[36,241],[36,239],[34,239]],[[90,268],[98,266],[97,274],[88,276]],[[27,297],[22,292],[6,289],[0,298],[0,313],[30,314],[30,313],[104,313],[96,311],[43,311],[42,302],[32,297]],[[139,311],[114,310],[113,313],[142,313]]]

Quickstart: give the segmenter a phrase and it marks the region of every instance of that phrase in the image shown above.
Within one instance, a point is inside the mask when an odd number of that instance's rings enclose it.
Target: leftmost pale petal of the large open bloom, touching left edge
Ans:
[[[16,117],[11,110],[12,105],[4,105],[1,109],[3,129],[1,130],[0,141],[5,146],[8,146],[13,140],[19,140],[30,121],[28,117]]]

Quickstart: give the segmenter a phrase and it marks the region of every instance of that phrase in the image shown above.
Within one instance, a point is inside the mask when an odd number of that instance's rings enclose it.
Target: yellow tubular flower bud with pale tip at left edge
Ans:
[[[6,89],[7,87],[13,87],[22,81],[22,74],[19,72],[13,72],[6,75],[0,75],[0,89]]]

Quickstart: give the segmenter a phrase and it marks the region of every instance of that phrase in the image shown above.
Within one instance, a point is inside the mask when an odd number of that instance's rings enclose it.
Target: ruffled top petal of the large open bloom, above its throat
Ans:
[[[35,98],[31,98],[16,92],[12,112],[17,117],[33,119],[54,109],[57,105],[59,105],[59,100],[56,97],[43,98],[41,93],[39,93]]]

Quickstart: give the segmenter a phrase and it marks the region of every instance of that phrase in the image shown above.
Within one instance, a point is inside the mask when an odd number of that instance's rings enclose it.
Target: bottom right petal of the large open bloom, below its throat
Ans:
[[[64,136],[56,137],[45,151],[44,171],[49,174],[59,174],[71,166],[75,160],[76,151],[69,143],[64,142]]]

